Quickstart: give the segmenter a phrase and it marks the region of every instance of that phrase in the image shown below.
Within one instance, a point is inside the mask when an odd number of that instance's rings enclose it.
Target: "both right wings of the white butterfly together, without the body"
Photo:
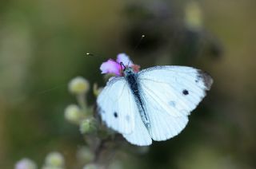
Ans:
[[[148,128],[153,140],[167,140],[178,135],[188,122],[188,115],[206,96],[212,79],[206,73],[184,66],[156,66],[138,73]]]

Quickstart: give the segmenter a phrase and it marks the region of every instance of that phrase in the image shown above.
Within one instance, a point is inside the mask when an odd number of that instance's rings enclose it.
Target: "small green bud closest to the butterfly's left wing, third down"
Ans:
[[[97,131],[97,122],[93,117],[83,120],[82,123],[80,124],[80,132],[82,134],[88,134],[96,131]]]

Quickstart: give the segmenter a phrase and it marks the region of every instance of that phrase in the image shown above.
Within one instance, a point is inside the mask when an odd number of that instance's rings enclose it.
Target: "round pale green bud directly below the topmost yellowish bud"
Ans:
[[[78,105],[70,104],[66,107],[64,112],[65,119],[74,124],[79,124],[81,120],[82,112]]]

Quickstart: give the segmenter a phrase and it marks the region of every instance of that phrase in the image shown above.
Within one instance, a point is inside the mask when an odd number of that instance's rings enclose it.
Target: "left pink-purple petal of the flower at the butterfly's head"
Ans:
[[[102,74],[114,73],[117,76],[121,76],[121,66],[117,62],[112,60],[103,62],[99,69],[101,69]]]

